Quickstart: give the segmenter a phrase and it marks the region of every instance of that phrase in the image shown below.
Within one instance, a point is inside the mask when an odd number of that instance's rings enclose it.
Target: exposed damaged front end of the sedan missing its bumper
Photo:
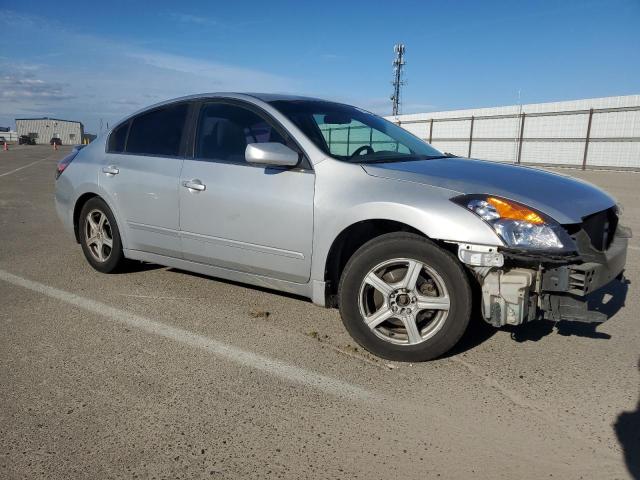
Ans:
[[[458,258],[480,283],[488,323],[501,327],[536,319],[607,319],[589,310],[587,296],[622,276],[631,230],[618,225],[616,207],[561,228],[575,249],[551,253],[458,244]]]

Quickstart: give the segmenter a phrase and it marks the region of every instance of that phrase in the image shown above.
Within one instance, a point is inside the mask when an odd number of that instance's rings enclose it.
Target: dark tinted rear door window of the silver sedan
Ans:
[[[129,129],[127,152],[177,156],[188,105],[170,105],[134,118]]]

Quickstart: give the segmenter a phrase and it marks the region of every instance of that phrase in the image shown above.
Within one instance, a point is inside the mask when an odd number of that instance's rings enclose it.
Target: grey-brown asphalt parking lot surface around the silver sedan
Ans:
[[[478,320],[446,358],[390,363],[304,299],[95,272],[54,211],[68,150],[0,151],[0,477],[640,476],[638,238],[593,299],[606,323]],[[640,174],[558,171],[640,234]]]

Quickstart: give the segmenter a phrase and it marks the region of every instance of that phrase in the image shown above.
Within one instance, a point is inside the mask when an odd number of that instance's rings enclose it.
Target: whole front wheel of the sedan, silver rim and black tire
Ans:
[[[363,245],[339,287],[340,314],[354,340],[375,355],[404,362],[450,350],[469,324],[471,297],[458,260],[409,233]]]

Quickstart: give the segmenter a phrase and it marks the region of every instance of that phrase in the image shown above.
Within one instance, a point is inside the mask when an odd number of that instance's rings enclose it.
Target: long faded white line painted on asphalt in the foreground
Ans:
[[[49,285],[27,280],[5,270],[0,270],[0,280],[41,293],[51,298],[82,308],[91,313],[98,314],[113,322],[121,323],[152,335],[164,337],[190,347],[205,350],[213,355],[222,357],[239,365],[260,370],[287,382],[297,383],[305,387],[312,387],[330,395],[344,397],[351,400],[370,400],[378,395],[369,392],[359,386],[352,385],[342,380],[313,372],[301,367],[288,365],[280,360],[275,360],[253,352],[213,340],[204,335],[190,332],[177,327],[172,327],[161,322],[150,320],[105,303],[97,302],[89,298],[81,297],[65,290],[59,290]]]

